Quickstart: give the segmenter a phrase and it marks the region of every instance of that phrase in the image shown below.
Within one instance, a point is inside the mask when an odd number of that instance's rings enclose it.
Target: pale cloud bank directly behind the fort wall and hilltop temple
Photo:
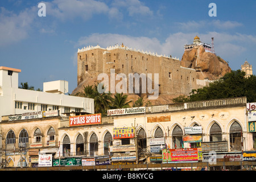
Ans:
[[[234,59],[240,56],[249,47],[247,45],[256,44],[256,36],[243,34],[226,34],[219,32],[208,32],[207,34],[198,34],[198,32],[185,34],[177,32],[170,34],[164,42],[160,42],[156,38],[134,37],[120,34],[92,34],[90,36],[81,37],[77,42],[78,48],[86,46],[96,46],[97,44],[106,48],[115,44],[124,44],[129,48],[135,48],[147,52],[158,53],[158,55],[166,55],[172,57],[181,57],[184,53],[184,44],[193,43],[193,38],[198,35],[200,40],[211,44],[211,38],[214,37],[214,49],[217,55]],[[247,42],[247,44],[244,44]]]

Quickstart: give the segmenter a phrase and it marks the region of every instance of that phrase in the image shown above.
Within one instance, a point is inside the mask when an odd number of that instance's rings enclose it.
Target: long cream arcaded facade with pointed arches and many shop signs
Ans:
[[[230,161],[233,156],[243,160],[242,151],[256,149],[255,130],[250,130],[255,123],[249,119],[253,105],[246,106],[246,97],[240,97],[108,110],[108,117],[102,118],[73,113],[69,117],[46,115],[9,121],[5,116],[1,123],[2,158],[5,156],[10,167],[19,166],[20,160],[23,166],[32,167],[47,154],[52,155],[53,166],[65,165],[61,160],[67,159],[90,166],[164,163],[163,150],[200,149],[203,159],[193,162],[204,160],[213,151],[230,156]],[[15,144],[10,143],[14,140]],[[27,142],[26,146],[20,146],[20,141]],[[6,144],[15,145],[16,153]],[[22,153],[24,150],[27,152]]]

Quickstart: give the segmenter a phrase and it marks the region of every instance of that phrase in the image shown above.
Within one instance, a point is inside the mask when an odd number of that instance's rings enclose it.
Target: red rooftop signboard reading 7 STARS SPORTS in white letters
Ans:
[[[101,114],[76,115],[69,117],[69,126],[101,124]]]

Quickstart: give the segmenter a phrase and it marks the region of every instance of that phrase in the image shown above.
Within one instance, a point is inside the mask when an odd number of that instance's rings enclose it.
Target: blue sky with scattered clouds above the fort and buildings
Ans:
[[[82,47],[123,43],[181,60],[197,35],[209,44],[213,37],[232,70],[247,60],[255,75],[255,9],[254,0],[1,0],[0,66],[21,69],[19,83],[35,89],[66,80],[72,93]]]

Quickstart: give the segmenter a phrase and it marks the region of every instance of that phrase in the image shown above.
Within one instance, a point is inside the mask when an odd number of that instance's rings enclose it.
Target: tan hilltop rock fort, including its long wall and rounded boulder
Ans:
[[[198,37],[197,37],[198,38]],[[210,81],[230,72],[228,63],[214,53],[206,52],[202,45],[184,51],[181,60],[176,57],[158,55],[124,46],[89,46],[77,51],[77,88],[72,94],[81,92],[86,85],[94,85],[100,73],[110,75],[110,69],[115,74],[123,73],[154,73],[159,74],[159,98],[152,104],[167,104],[171,98],[181,94],[189,95],[192,89],[209,85]],[[152,77],[154,82],[154,77]],[[115,82],[117,84],[117,81]],[[154,84],[153,84],[154,85]],[[137,100],[132,97],[131,100]],[[147,98],[148,94],[134,94]]]

